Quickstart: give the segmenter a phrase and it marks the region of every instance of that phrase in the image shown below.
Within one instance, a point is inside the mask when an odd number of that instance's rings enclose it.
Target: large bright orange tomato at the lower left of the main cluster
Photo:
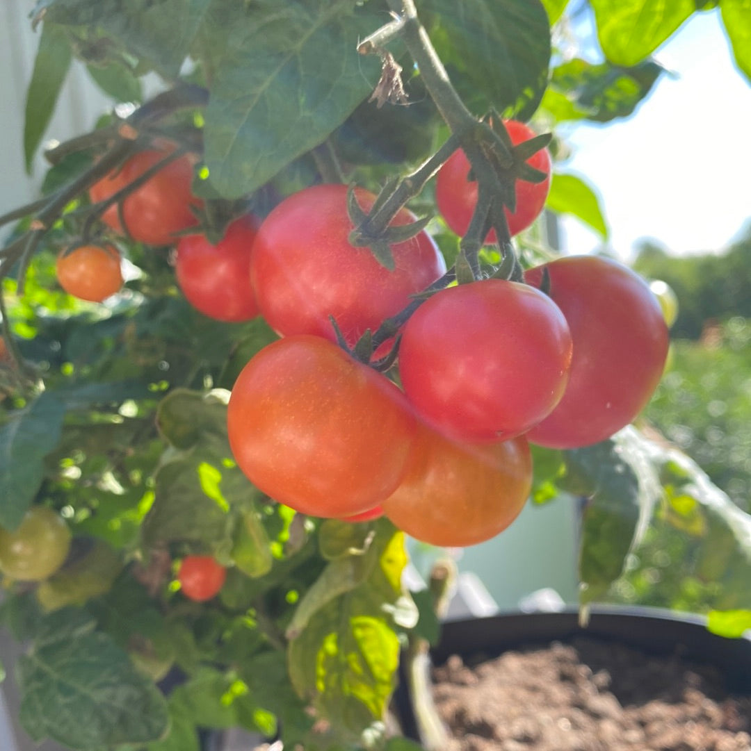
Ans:
[[[229,443],[260,490],[304,514],[347,517],[392,493],[414,418],[383,375],[319,336],[263,348],[238,376]]]

